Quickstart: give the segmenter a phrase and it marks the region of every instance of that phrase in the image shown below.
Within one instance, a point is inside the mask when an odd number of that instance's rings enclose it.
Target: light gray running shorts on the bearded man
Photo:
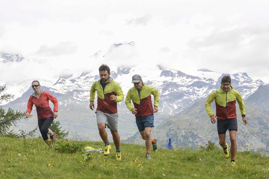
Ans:
[[[95,111],[97,124],[105,123],[107,128],[118,130],[118,113],[109,114],[101,111]]]

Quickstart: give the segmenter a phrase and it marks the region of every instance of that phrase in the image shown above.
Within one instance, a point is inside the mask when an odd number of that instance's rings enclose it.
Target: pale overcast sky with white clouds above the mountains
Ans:
[[[268,9],[265,0],[1,0],[0,52],[28,60],[12,67],[21,77],[106,63],[162,65],[189,75],[201,68],[246,72],[269,83]],[[111,45],[132,41],[133,48],[109,54]],[[107,58],[93,58],[98,51]],[[1,78],[6,69],[0,67]]]

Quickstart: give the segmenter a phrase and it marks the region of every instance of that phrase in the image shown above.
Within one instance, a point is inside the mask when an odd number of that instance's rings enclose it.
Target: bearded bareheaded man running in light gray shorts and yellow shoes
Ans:
[[[120,136],[118,134],[117,103],[124,98],[120,85],[110,77],[110,68],[102,64],[99,67],[100,79],[94,81],[90,90],[90,109],[94,109],[95,92],[97,92],[97,108],[95,111],[99,135],[105,143],[104,156],[110,155],[106,126],[110,129],[116,146],[116,160],[121,160]]]

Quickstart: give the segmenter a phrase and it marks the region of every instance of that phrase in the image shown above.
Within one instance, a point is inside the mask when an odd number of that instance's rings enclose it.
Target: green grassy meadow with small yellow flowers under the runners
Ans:
[[[146,160],[145,146],[122,143],[118,161],[111,144],[104,157],[81,149],[104,148],[103,142],[57,140],[49,148],[42,138],[0,138],[0,178],[269,178],[269,157],[250,151],[237,152],[233,167],[218,147],[159,148]]]

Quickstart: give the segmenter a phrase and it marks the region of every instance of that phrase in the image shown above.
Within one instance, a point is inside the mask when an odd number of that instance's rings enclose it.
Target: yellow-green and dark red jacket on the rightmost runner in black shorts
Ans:
[[[220,87],[209,95],[205,102],[205,109],[209,117],[214,115],[214,112],[210,107],[213,100],[215,100],[216,103],[216,116],[218,119],[236,118],[236,101],[239,104],[241,115],[246,115],[242,96],[237,90],[234,90],[232,86],[227,92],[223,91]]]

